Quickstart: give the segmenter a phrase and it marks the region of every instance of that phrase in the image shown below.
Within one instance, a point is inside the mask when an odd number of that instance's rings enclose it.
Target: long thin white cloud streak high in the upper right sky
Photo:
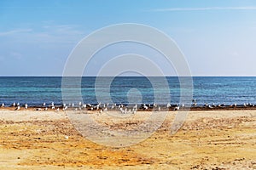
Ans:
[[[154,12],[208,11],[208,10],[256,10],[256,7],[205,7],[205,8],[155,8]]]

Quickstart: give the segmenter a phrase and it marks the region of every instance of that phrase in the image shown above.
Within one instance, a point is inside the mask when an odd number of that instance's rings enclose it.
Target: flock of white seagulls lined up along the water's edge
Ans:
[[[251,103],[244,103],[243,105],[237,105],[236,103],[233,105],[225,105],[225,104],[205,104],[202,107],[203,108],[208,108],[208,109],[214,109],[214,108],[224,108],[224,107],[254,107],[254,104]],[[5,104],[3,103],[1,107],[5,107]],[[20,103],[13,103],[11,107],[15,107],[16,111],[20,110],[20,107],[23,107],[24,109],[28,109],[28,105],[20,105]],[[199,107],[197,106],[196,100],[192,99],[192,107]],[[123,105],[123,104],[102,104],[99,103],[97,105],[91,105],[91,104],[83,104],[82,102],[79,102],[78,105],[73,104],[62,104],[62,105],[55,105],[54,102],[51,102],[49,105],[46,105],[44,102],[40,107],[35,108],[36,111],[48,111],[48,110],[53,110],[53,111],[67,111],[67,109],[72,110],[72,111],[108,111],[108,110],[115,110],[115,111],[120,111],[120,113],[126,114],[126,113],[136,113],[138,110],[139,111],[178,111],[181,108],[185,108],[185,105],[183,104],[178,104],[178,105],[171,105],[170,103],[167,103],[166,105],[157,105],[157,104],[141,104],[141,105]]]

